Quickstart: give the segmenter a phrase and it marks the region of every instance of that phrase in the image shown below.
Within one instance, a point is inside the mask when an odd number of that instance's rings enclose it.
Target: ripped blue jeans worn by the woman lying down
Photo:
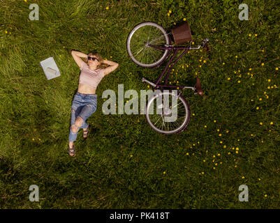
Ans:
[[[89,126],[86,123],[87,118],[91,116],[97,109],[97,95],[96,94],[84,94],[84,93],[75,93],[71,106],[71,125],[69,133],[69,141],[75,141],[77,139],[78,132],[80,128],[87,128]],[[75,124],[76,118],[82,118],[83,123],[80,126],[78,132],[72,132],[71,126]]]

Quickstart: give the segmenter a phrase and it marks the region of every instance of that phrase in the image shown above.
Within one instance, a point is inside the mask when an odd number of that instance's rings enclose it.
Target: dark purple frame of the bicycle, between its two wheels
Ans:
[[[168,36],[168,37],[170,38],[170,36]],[[171,41],[170,41],[170,43],[171,43]],[[147,46],[153,47],[155,49],[160,49],[160,50],[168,49],[168,55],[166,56],[166,59],[170,55],[171,51],[175,50],[175,54],[168,61],[168,64],[165,66],[165,68],[164,68],[163,72],[161,73],[161,76],[159,77],[159,79],[156,80],[156,83],[149,82],[147,79],[142,79],[142,81],[145,81],[145,82],[151,84],[156,89],[159,89],[159,87],[160,87],[161,89],[162,88],[174,88],[174,89],[192,89],[193,91],[196,90],[195,87],[191,87],[191,86],[175,86],[175,85],[166,85],[166,84],[168,82],[168,77],[170,75],[170,70],[173,68],[173,66],[175,66],[175,64],[179,61],[179,59],[181,59],[182,56],[184,56],[184,54],[186,54],[186,52],[191,50],[191,49],[200,49],[201,45],[198,45],[198,47],[176,47],[176,46],[173,46],[173,45],[165,45],[165,47],[157,47],[157,46],[154,46],[154,45],[147,44]],[[176,61],[172,64],[172,66],[170,66],[170,63],[175,58],[175,56],[177,55],[179,50],[182,50],[182,49],[184,49],[184,52],[182,52],[182,54],[176,59]],[[166,61],[166,59],[164,61]],[[154,68],[157,68],[157,67],[161,66],[161,64],[164,63],[164,61],[162,61],[158,66],[155,66]],[[159,82],[161,81],[161,79],[162,79],[163,75],[165,74],[166,70],[168,70],[168,71],[167,71],[167,75],[165,77],[165,84],[159,84]]]

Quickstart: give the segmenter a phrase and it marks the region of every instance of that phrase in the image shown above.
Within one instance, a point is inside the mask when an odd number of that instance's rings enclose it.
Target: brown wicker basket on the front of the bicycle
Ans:
[[[190,40],[193,40],[193,38],[191,38],[191,29],[189,27],[188,22],[185,22],[184,24],[172,29],[172,35],[175,44],[177,45],[182,43],[188,43]]]

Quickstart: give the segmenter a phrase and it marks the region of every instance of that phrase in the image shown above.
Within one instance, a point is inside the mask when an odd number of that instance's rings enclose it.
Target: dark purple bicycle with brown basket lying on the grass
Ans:
[[[171,37],[173,37],[175,45],[189,43],[189,41],[191,41],[190,46],[184,47],[171,45]],[[173,28],[170,33],[167,33],[162,26],[156,24],[155,22],[142,22],[137,24],[128,34],[128,38],[126,40],[126,49],[131,60],[138,66],[145,68],[157,68],[161,66],[161,64],[166,61],[170,53],[175,50],[175,53],[168,61],[163,72],[161,73],[161,76],[156,80],[156,82],[150,82],[149,80],[145,79],[145,77],[142,78],[142,82],[147,82],[152,86],[153,89],[157,90],[152,98],[148,100],[146,107],[147,121],[156,132],[163,134],[179,133],[185,130],[186,126],[189,124],[191,109],[189,107],[189,103],[186,101],[186,98],[184,98],[182,91],[180,90],[191,89],[195,94],[202,96],[203,91],[201,88],[200,79],[198,77],[196,78],[196,85],[194,87],[174,86],[167,85],[168,77],[170,75],[170,70],[173,68],[175,63],[177,63],[188,50],[200,49],[200,47],[202,47],[206,48],[209,52],[210,48],[207,44],[208,41],[209,39],[206,38],[205,40],[202,40],[201,45],[198,45],[197,47],[191,47],[193,40],[188,22]],[[172,66],[170,66],[170,63],[173,61],[179,50],[184,50],[184,52],[182,52],[176,61],[172,63]],[[165,77],[165,84],[159,84],[167,69],[168,71]],[[177,91],[175,93],[174,91],[170,90],[165,91],[166,89],[179,89],[179,95],[177,95]],[[163,101],[161,100],[162,96],[165,98]],[[172,105],[174,100],[176,100],[174,107],[169,106],[170,97],[172,98]],[[168,98],[168,103],[165,103],[166,98]],[[156,107],[154,107],[155,100],[157,100],[159,103],[159,105],[156,105]],[[179,103],[177,101],[179,101]],[[154,114],[154,109],[157,111],[156,114]],[[174,111],[176,112],[175,121],[166,121],[167,118],[172,116],[172,112]]]

